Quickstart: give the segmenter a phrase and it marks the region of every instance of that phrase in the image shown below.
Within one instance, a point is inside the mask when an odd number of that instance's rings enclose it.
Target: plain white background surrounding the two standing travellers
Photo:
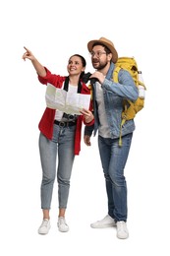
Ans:
[[[7,0],[0,6],[1,185],[0,254],[6,255],[168,255],[169,250],[169,8],[168,0]],[[22,56],[27,46],[53,73],[67,75],[70,55],[80,53],[92,72],[86,43],[105,36],[119,56],[135,56],[147,88],[145,107],[125,174],[130,237],[115,228],[89,224],[107,214],[97,141],[76,157],[67,210],[68,233],[57,229],[57,185],[48,235],[41,223],[41,166],[37,128],[45,87]]]

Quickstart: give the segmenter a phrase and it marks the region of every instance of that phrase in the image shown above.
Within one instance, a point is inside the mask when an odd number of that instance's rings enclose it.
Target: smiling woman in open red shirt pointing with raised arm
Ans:
[[[85,74],[85,58],[75,54],[69,58],[67,71],[69,76],[51,74],[33,56],[28,48],[23,59],[29,59],[37,72],[41,84],[63,89],[69,92],[89,95],[90,92],[83,82]],[[90,108],[90,107],[89,107]],[[66,232],[69,226],[65,220],[65,212],[68,203],[70,178],[75,155],[81,150],[82,122],[92,125],[93,115],[90,110],[83,109],[80,115],[68,115],[60,110],[46,107],[39,122],[39,153],[42,166],[41,182],[41,209],[43,213],[42,224],[38,228],[39,234],[46,234],[50,229],[50,205],[53,192],[53,184],[56,176],[56,160],[58,156],[57,181],[58,181],[58,229]]]

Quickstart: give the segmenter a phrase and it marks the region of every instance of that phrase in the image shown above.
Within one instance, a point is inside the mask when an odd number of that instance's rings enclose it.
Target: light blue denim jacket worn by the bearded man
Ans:
[[[106,110],[107,121],[110,127],[110,138],[115,139],[120,136],[120,128],[122,121],[123,101],[130,99],[137,100],[139,96],[138,88],[136,87],[133,78],[126,70],[121,69],[119,72],[119,83],[113,82],[113,70],[115,68],[112,62],[107,75],[104,79],[101,88],[103,90],[104,105]],[[99,126],[99,118],[96,102],[96,83],[92,85],[94,124],[85,126],[85,135],[96,135]],[[126,121],[122,127],[122,136],[132,133],[135,130],[135,122],[133,120]]]

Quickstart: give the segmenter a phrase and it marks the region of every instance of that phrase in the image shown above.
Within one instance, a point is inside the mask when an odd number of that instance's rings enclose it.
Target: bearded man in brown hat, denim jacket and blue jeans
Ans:
[[[119,72],[119,83],[112,80],[118,53],[112,41],[105,37],[90,40],[87,49],[95,72],[90,76],[92,84],[94,125],[85,126],[85,144],[90,146],[90,136],[98,131],[98,149],[105,177],[108,198],[108,214],[101,221],[91,224],[93,228],[117,227],[117,237],[128,238],[127,184],[124,168],[128,159],[134,120],[121,127],[121,114],[125,99],[135,101],[138,89],[126,70]],[[91,82],[92,83],[92,82]],[[120,137],[122,146],[119,144]]]

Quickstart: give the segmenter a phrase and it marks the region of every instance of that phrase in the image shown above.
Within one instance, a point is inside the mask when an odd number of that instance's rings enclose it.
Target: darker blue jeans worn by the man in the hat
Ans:
[[[122,137],[122,147],[118,139],[98,136],[98,148],[105,177],[108,199],[108,215],[116,222],[127,221],[127,183],[124,168],[128,159],[133,133]]]

